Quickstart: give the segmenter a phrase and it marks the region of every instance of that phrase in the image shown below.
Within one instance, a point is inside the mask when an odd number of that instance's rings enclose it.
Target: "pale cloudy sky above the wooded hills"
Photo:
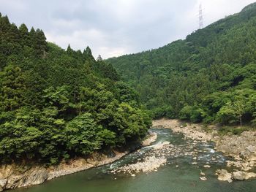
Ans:
[[[102,58],[138,53],[184,39],[255,0],[0,0],[10,22],[41,28],[49,42],[91,47]]]

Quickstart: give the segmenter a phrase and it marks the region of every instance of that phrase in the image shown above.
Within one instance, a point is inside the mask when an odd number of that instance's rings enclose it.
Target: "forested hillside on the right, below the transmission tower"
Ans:
[[[256,123],[256,3],[184,40],[110,58],[154,118]]]

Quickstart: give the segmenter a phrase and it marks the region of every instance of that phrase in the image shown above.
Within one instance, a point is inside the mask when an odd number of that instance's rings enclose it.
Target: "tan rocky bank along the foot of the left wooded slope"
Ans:
[[[157,134],[150,133],[141,143],[142,146],[151,145],[157,139]],[[39,185],[55,177],[61,177],[75,172],[81,172],[96,166],[111,164],[130,153],[113,151],[111,155],[94,153],[89,158],[76,158],[68,162],[61,162],[57,166],[29,166],[28,164],[8,164],[0,166],[0,191],[30,185]]]

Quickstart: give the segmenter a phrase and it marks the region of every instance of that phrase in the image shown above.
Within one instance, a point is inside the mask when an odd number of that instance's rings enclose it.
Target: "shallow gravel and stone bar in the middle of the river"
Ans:
[[[139,158],[135,158],[136,160],[134,162],[131,162],[131,164],[125,164],[124,166],[110,169],[109,172],[111,174],[124,173],[135,177],[137,174],[140,174],[140,172],[157,172],[157,170],[165,164],[173,164],[173,166],[176,166],[176,168],[178,168],[178,158],[191,159],[191,164],[193,166],[208,169],[211,167],[208,162],[204,162],[205,164],[200,164],[199,166],[197,165],[197,160],[201,161],[201,158],[208,156],[209,153],[211,153],[211,150],[210,148],[208,148],[207,150],[199,150],[199,144],[199,142],[191,140],[187,140],[184,143],[178,145],[173,145],[168,141],[158,142],[155,145],[141,148],[140,150],[132,153],[133,156]],[[175,161],[170,161],[170,159],[174,158],[176,159]],[[216,162],[219,162],[220,160],[218,159],[219,155],[215,155],[214,153],[211,153],[211,158],[214,159],[214,161]],[[204,177],[202,177],[202,179],[204,179]]]

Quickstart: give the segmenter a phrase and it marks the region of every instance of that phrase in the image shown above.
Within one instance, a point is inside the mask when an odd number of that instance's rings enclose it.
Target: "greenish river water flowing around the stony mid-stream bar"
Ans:
[[[181,134],[173,134],[170,129],[152,129],[158,134],[157,141],[168,141],[182,151],[197,151],[197,164],[191,154],[165,155],[167,164],[161,166],[157,172],[138,173],[136,177],[129,174],[113,174],[111,171],[118,167],[134,164],[141,158],[151,155],[152,147],[143,147],[135,153],[130,153],[119,161],[106,166],[89,169],[84,172],[70,174],[50,180],[42,185],[29,188],[18,188],[11,192],[231,192],[256,191],[256,180],[220,182],[214,175],[216,169],[225,168],[227,158],[222,153],[214,151],[213,143],[195,143],[184,139]],[[204,165],[211,168],[204,168]],[[206,174],[207,180],[200,180],[200,172]]]

